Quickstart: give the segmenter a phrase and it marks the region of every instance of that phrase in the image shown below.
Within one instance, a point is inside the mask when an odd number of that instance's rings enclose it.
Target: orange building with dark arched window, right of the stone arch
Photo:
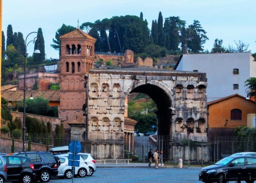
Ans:
[[[253,100],[234,94],[207,103],[208,137],[233,135],[237,126],[247,126],[247,114],[255,113]]]

